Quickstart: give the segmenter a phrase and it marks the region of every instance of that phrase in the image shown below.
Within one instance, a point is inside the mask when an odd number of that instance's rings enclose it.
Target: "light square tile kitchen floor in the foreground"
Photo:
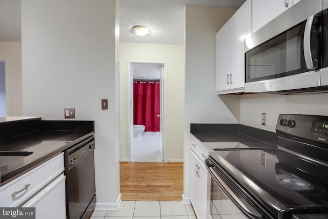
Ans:
[[[94,211],[91,219],[196,219],[181,201],[122,201],[118,211]]]

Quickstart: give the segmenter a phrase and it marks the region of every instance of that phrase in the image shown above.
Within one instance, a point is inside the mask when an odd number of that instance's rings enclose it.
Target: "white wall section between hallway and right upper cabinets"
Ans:
[[[186,6],[183,198],[189,197],[190,123],[238,123],[215,94],[215,34],[236,9]],[[185,199],[186,198],[186,199]]]

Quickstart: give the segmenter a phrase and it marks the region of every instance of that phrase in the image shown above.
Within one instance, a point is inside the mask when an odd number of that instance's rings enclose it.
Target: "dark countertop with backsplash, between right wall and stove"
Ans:
[[[275,132],[240,124],[191,124],[190,133],[209,149],[277,147],[278,145]]]

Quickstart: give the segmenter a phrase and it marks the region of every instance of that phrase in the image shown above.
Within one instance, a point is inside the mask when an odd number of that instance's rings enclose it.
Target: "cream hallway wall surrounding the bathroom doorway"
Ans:
[[[121,161],[127,161],[127,87],[130,82],[128,62],[167,63],[166,109],[164,115],[167,134],[166,158],[168,162],[183,161],[183,96],[185,87],[185,47],[180,45],[120,43],[121,86]]]

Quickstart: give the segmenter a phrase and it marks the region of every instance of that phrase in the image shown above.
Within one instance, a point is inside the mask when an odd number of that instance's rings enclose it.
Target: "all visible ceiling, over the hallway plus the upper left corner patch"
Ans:
[[[0,0],[0,41],[21,41],[20,1]],[[175,45],[184,44],[185,5],[239,8],[245,2],[245,0],[118,1],[120,4],[120,42]],[[131,28],[135,25],[147,26],[151,32],[146,36],[136,36],[131,32]]]

